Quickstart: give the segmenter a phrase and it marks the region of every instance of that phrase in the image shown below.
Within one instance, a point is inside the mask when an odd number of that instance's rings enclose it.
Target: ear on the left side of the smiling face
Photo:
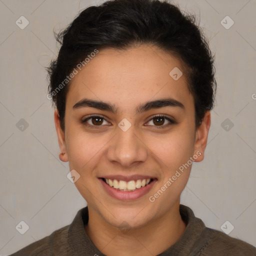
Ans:
[[[66,144],[65,144],[65,133],[60,127],[60,120],[59,120],[59,114],[58,110],[55,109],[54,111],[54,122],[55,122],[55,128],[57,132],[58,137],[58,145],[59,145],[59,159],[63,162],[68,161],[67,152],[66,152]]]

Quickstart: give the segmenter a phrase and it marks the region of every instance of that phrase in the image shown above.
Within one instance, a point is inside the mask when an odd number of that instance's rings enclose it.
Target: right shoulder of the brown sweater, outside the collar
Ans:
[[[254,246],[221,231],[206,227],[202,235],[208,237],[208,240],[200,250],[200,256],[256,256],[256,248]]]

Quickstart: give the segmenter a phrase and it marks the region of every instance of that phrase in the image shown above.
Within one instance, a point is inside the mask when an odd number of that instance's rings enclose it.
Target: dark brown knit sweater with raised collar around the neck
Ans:
[[[180,204],[179,211],[186,223],[185,231],[175,244],[159,256],[256,256],[256,248],[252,245],[205,227],[189,207]],[[87,222],[88,208],[84,207],[77,212],[70,225],[55,230],[10,256],[104,256],[89,239],[84,229]]]

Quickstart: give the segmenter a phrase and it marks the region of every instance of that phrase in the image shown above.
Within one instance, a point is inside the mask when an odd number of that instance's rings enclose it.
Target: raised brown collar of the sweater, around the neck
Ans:
[[[204,241],[202,235],[205,229],[202,220],[196,218],[193,211],[183,204],[179,205],[179,212],[182,220],[186,223],[186,228],[179,240],[158,254],[158,256],[194,255],[201,249],[202,244],[206,242],[206,237]],[[86,206],[78,210],[68,228],[68,243],[71,247],[72,255],[105,256],[88,237],[84,229],[84,225],[87,223],[88,207]]]

